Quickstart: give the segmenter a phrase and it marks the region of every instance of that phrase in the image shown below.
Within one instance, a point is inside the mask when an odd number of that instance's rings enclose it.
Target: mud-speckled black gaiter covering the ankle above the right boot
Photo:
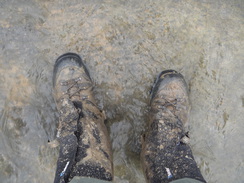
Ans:
[[[172,128],[174,126],[172,123],[168,127],[165,124],[155,123],[151,125],[150,131],[145,137],[142,152],[144,172],[148,182],[167,183],[186,177],[205,182],[189,145],[180,142],[180,139],[171,138],[169,140],[170,136],[175,136],[174,133],[162,136],[162,134],[165,134],[163,128],[175,132],[181,130],[177,127]]]

